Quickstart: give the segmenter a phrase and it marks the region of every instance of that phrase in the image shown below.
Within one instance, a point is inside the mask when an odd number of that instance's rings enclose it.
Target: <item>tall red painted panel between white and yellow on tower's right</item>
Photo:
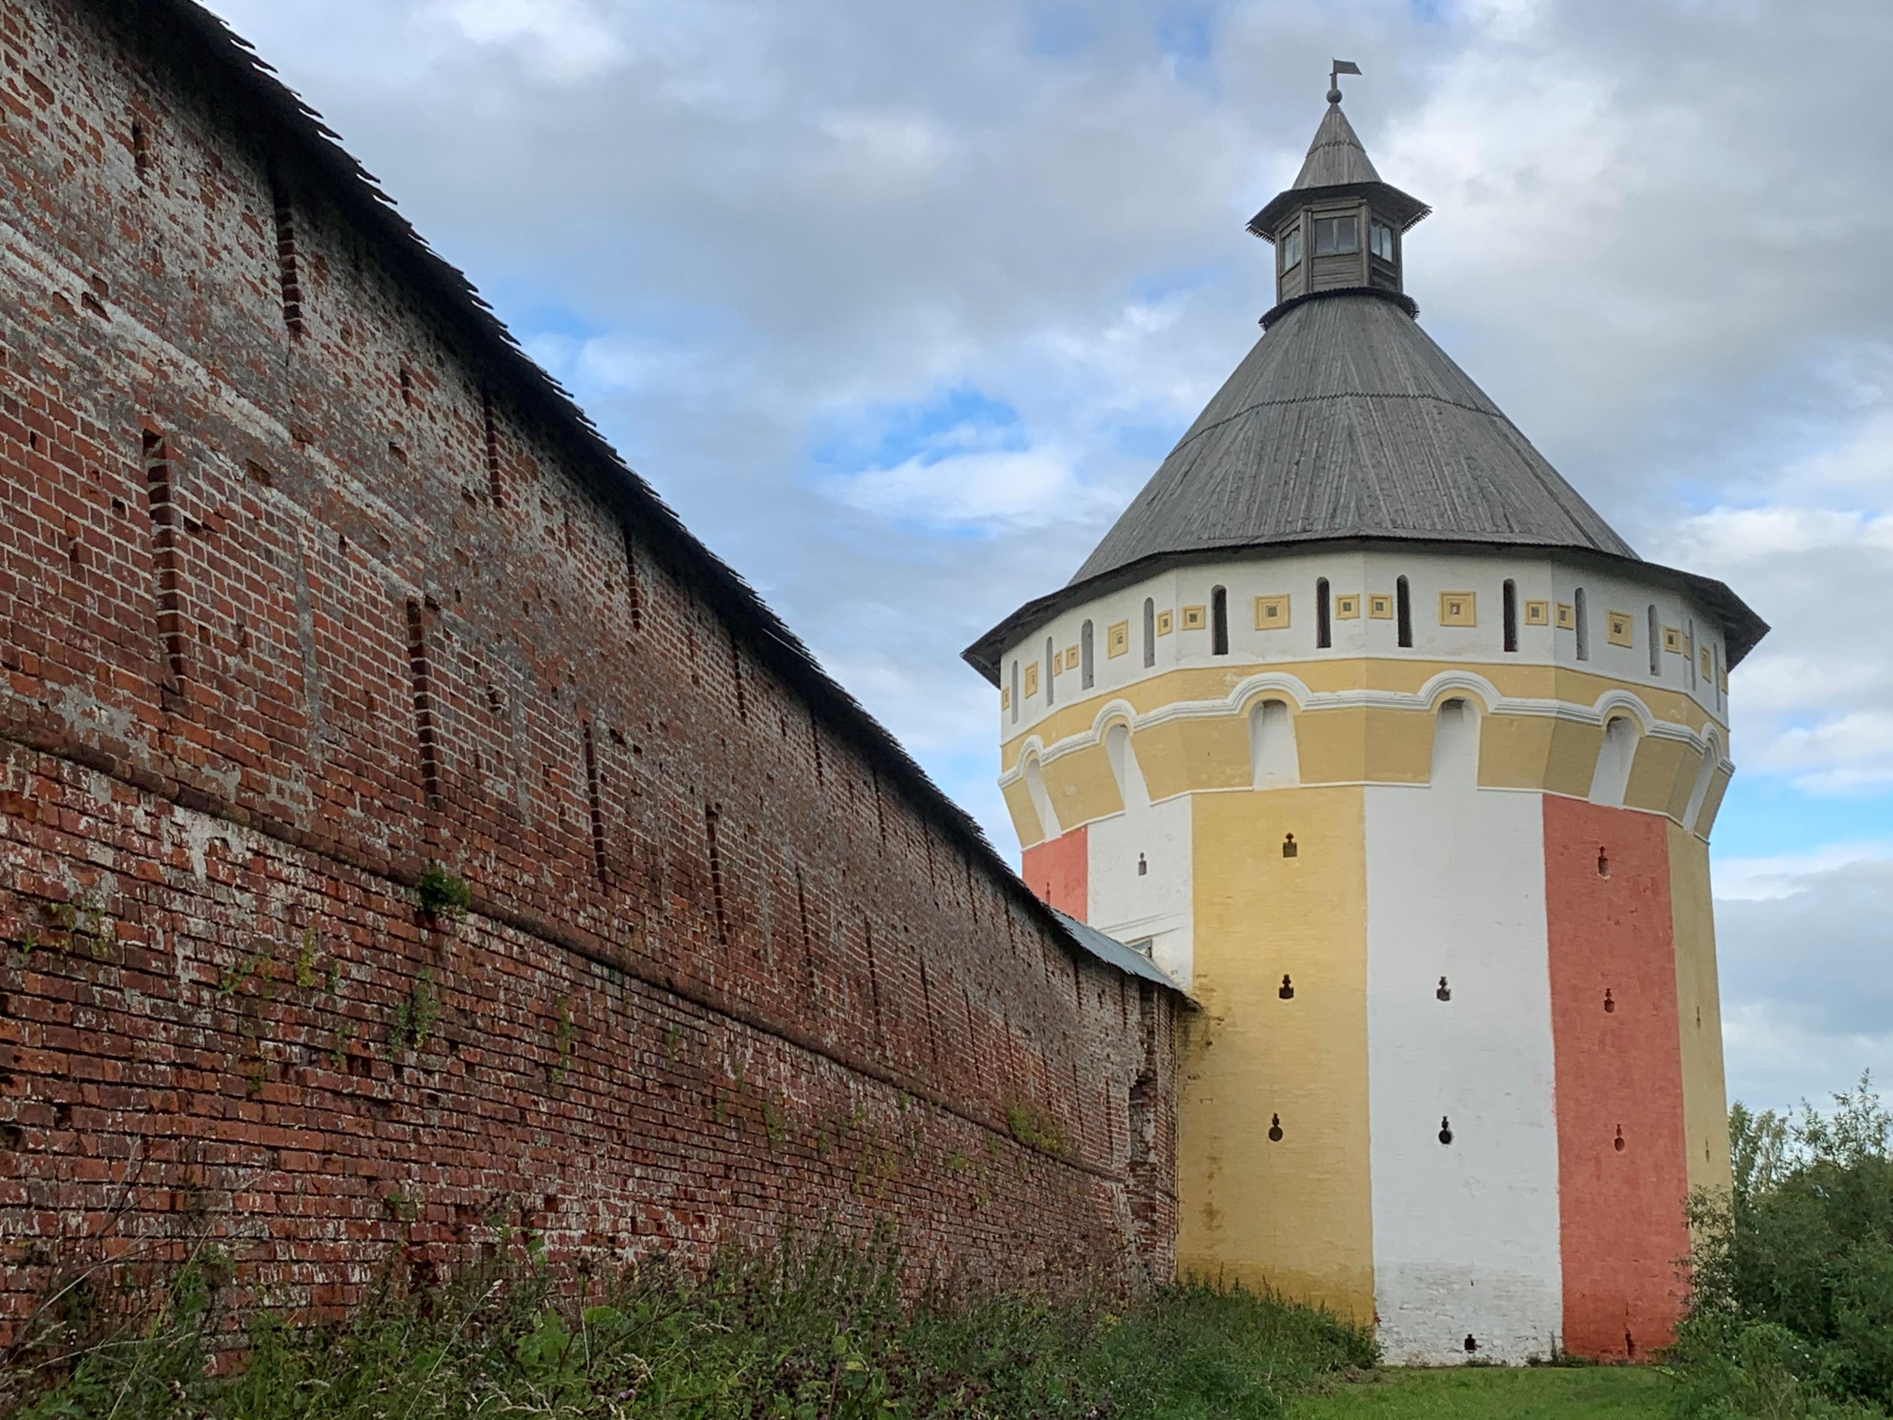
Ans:
[[[1689,1180],[1666,831],[1658,814],[1545,795],[1564,1346],[1592,1359],[1649,1359],[1683,1310]]]

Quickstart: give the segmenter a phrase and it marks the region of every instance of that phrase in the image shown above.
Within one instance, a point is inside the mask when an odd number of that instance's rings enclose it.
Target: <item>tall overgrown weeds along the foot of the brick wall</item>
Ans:
[[[148,1314],[49,1363],[23,1416],[112,1420],[1132,1420],[1274,1416],[1372,1340],[1323,1312],[1206,1286],[1134,1305],[994,1297],[903,1305],[888,1248],[784,1248],[693,1278],[663,1265],[581,1301],[536,1259],[445,1287],[384,1287],[327,1327],[257,1312],[240,1369],[187,1270]]]

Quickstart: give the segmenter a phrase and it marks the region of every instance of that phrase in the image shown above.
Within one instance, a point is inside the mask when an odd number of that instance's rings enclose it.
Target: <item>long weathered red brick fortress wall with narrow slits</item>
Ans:
[[[204,1233],[318,1305],[504,1223],[1168,1272],[1181,998],[214,21],[8,0],[0,49],[0,1312]]]

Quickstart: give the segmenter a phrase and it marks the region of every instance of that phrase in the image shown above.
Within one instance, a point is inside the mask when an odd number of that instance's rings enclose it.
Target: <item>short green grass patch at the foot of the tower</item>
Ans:
[[[1374,1371],[1327,1382],[1291,1420],[1643,1420],[1672,1414],[1675,1382],[1645,1367],[1495,1365]]]

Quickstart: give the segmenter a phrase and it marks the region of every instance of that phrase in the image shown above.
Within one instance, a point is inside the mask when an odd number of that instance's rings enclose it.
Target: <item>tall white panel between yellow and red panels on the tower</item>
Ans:
[[[1367,788],[1374,1306],[1389,1361],[1522,1361],[1562,1325],[1543,810],[1448,778]]]

